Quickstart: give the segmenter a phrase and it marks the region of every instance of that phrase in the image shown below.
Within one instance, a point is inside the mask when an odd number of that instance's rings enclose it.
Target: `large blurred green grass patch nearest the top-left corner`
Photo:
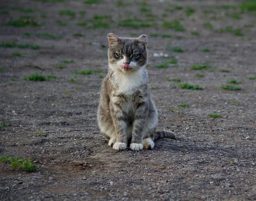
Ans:
[[[34,16],[22,15],[18,20],[10,20],[7,25],[15,26],[15,27],[38,27],[43,25],[43,23],[39,23],[35,21]]]

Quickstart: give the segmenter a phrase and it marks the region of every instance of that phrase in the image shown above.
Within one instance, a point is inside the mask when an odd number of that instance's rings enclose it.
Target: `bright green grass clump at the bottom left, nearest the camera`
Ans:
[[[10,158],[10,155],[4,154],[3,156],[0,156],[0,161],[6,164],[10,164],[10,167],[13,170],[16,170],[17,168],[32,172],[37,169],[36,165],[31,163],[30,159],[20,159],[17,157]]]

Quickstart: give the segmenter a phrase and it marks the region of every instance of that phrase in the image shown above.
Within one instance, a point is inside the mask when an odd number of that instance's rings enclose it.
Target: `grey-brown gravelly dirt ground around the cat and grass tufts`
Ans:
[[[256,80],[248,79],[256,76],[255,11],[239,13],[241,1],[230,0],[147,4],[1,0],[0,5],[0,43],[40,45],[38,50],[0,47],[0,122],[7,125],[0,128],[0,156],[31,158],[38,167],[28,173],[0,163],[1,201],[256,200]],[[195,10],[190,16],[188,6]],[[75,11],[76,17],[58,13],[66,9]],[[83,16],[79,11],[87,12]],[[236,12],[241,19],[236,14],[230,17]],[[109,27],[93,25],[101,20],[94,14],[107,15],[102,18]],[[35,16],[41,26],[6,25],[20,15]],[[133,17],[151,23],[151,27],[120,26],[120,20]],[[173,19],[179,19],[186,30],[163,27],[163,21]],[[60,26],[56,20],[68,24]],[[76,24],[84,21],[86,26]],[[216,31],[227,26],[241,28],[243,35]],[[159,113],[159,129],[175,131],[176,140],[159,139],[153,150],[116,151],[100,134],[96,111],[107,67],[99,70],[108,64],[110,32],[123,37],[148,36],[149,84]],[[57,37],[38,35],[42,33]],[[73,36],[75,33],[84,36]],[[153,37],[156,34],[159,36]],[[173,51],[175,46],[184,51]],[[206,47],[210,51],[201,50]],[[14,56],[13,52],[24,55]],[[178,67],[156,68],[173,59],[155,57],[156,53],[173,55]],[[206,63],[211,68],[191,69],[191,65]],[[96,71],[75,73],[83,70]],[[35,73],[55,75],[56,79],[24,80]],[[166,81],[166,77],[181,82]],[[231,78],[241,81],[229,84],[241,87],[240,91],[221,88]],[[184,82],[204,89],[181,89]],[[210,113],[221,117],[212,118]]]

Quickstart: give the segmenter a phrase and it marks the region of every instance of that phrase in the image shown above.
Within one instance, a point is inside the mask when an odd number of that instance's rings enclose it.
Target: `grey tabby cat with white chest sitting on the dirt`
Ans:
[[[157,110],[148,90],[147,37],[120,38],[108,34],[108,74],[102,82],[98,125],[116,150],[154,148],[154,139],[175,139],[171,131],[156,131]]]

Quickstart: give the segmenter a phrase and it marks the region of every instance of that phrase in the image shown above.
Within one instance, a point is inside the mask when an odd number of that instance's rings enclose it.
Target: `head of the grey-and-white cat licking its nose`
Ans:
[[[119,38],[108,34],[108,62],[114,71],[125,73],[143,68],[147,63],[147,37]]]

